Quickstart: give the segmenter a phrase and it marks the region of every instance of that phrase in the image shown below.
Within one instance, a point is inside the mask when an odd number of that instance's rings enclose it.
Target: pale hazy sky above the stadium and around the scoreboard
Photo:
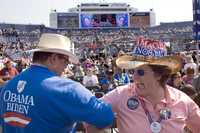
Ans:
[[[45,24],[51,9],[65,12],[85,2],[127,2],[139,11],[156,13],[156,23],[192,21],[192,0],[0,0],[0,23]]]

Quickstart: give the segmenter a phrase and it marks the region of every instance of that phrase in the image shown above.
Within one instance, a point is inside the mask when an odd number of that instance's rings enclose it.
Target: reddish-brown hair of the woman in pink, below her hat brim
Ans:
[[[171,74],[171,69],[167,66],[161,66],[161,65],[149,65],[149,66],[152,69],[152,71],[155,73],[155,75],[161,76],[159,83],[162,87],[165,88],[167,80]]]

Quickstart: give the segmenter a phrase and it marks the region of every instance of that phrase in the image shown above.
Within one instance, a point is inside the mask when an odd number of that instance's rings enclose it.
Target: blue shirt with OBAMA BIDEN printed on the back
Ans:
[[[75,122],[102,128],[112,123],[111,106],[80,83],[42,66],[10,80],[1,92],[3,133],[69,133]]]

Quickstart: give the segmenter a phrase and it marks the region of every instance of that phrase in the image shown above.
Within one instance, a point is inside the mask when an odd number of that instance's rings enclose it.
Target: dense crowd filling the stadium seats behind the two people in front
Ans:
[[[31,54],[26,51],[36,47],[39,37],[44,32],[56,32],[72,40],[75,53],[80,57],[80,64],[69,64],[62,76],[82,83],[97,97],[102,97],[117,86],[134,82],[133,73],[118,68],[115,59],[132,52],[138,37],[170,42],[179,49],[168,46],[168,53],[182,58],[182,69],[171,75],[168,84],[187,93],[200,106],[200,98],[197,97],[200,92],[198,52],[185,51],[188,48],[185,44],[189,45],[192,40],[190,22],[161,24],[144,29],[53,30],[39,27],[30,31],[0,27],[1,85],[29,67]],[[190,48],[193,49],[192,46]]]

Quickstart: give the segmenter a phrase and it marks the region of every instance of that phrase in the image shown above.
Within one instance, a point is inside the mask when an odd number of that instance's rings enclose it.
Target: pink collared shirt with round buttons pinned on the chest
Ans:
[[[166,92],[166,100],[160,101],[156,107],[144,99],[154,121],[158,120],[162,108],[167,107],[171,110],[171,118],[161,121],[160,133],[182,133],[186,123],[192,128],[193,133],[200,133],[199,107],[185,93],[175,88],[167,86]],[[131,98],[139,102],[138,106],[129,106],[127,102]],[[117,113],[117,127],[120,133],[151,133],[149,120],[133,84],[118,87],[102,99],[110,103],[113,111]]]

